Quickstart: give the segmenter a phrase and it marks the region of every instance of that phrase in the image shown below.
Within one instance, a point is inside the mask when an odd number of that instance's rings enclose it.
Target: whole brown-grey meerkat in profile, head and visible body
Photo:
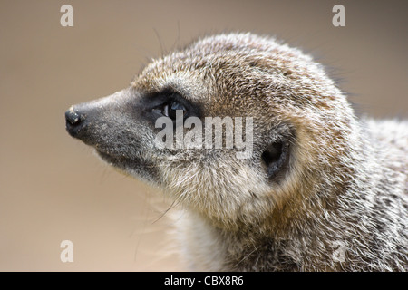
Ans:
[[[251,154],[157,146],[161,117],[184,133],[190,117],[251,118]],[[357,118],[321,64],[275,38],[201,38],[65,118],[180,205],[193,271],[408,270],[408,122]]]

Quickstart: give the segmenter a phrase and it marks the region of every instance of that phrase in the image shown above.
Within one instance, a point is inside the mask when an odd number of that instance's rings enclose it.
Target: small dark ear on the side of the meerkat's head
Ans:
[[[267,167],[267,179],[276,181],[283,178],[289,160],[289,142],[277,140],[270,143],[261,159]]]

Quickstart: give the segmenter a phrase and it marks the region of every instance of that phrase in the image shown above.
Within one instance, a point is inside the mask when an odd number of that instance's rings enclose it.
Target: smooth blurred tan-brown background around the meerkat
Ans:
[[[60,8],[73,6],[73,27]],[[345,6],[345,27],[332,8]],[[170,201],[95,158],[64,111],[205,34],[276,35],[324,63],[359,113],[408,117],[405,1],[0,0],[0,270],[179,271]],[[171,210],[170,210],[171,211]],[[73,242],[73,263],[60,243]]]

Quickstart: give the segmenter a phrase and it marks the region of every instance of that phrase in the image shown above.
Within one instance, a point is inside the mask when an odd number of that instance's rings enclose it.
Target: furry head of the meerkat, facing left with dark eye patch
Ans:
[[[254,34],[203,38],[65,116],[102,160],[230,228],[317,192],[353,121],[318,63]]]

